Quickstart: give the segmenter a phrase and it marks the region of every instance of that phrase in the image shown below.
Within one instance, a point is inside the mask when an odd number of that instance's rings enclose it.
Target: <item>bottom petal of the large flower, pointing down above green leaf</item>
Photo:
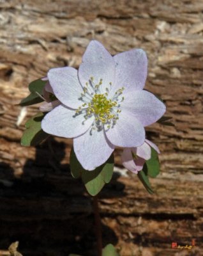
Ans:
[[[86,170],[94,170],[105,163],[114,151],[114,146],[107,140],[103,130],[93,130],[91,128],[81,136],[74,138],[73,147],[77,159]]]

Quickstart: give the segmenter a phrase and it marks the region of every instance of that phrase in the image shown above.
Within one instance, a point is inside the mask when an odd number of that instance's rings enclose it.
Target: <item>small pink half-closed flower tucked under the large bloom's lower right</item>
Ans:
[[[158,147],[150,140],[145,140],[139,147],[124,148],[121,155],[123,166],[137,174],[142,170],[146,160],[151,158],[151,147],[160,154]]]

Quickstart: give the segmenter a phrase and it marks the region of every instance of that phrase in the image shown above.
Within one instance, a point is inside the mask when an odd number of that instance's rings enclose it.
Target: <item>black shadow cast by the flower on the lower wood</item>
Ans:
[[[26,256],[96,255],[92,200],[82,182],[71,177],[69,165],[61,164],[64,156],[64,143],[49,138],[36,147],[34,160],[27,159],[20,179],[1,164],[0,248],[19,241]],[[114,173],[100,198],[124,196],[118,177]],[[116,244],[114,230],[101,228],[103,246]]]

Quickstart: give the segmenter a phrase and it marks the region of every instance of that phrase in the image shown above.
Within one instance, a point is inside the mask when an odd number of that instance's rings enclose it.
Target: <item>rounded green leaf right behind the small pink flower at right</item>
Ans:
[[[146,161],[147,175],[155,178],[160,173],[160,162],[158,160],[158,153],[154,148],[151,148],[151,158]]]

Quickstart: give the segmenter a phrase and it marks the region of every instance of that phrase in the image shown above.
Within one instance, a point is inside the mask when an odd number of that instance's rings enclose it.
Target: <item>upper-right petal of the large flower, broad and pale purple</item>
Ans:
[[[114,56],[116,63],[115,84],[110,95],[123,87],[142,90],[147,77],[147,56],[142,49],[121,52]]]

